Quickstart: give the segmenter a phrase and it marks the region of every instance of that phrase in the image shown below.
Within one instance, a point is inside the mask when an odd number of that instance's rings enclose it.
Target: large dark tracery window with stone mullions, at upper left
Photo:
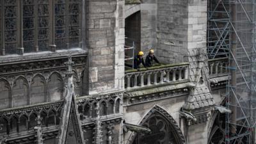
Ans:
[[[0,55],[82,48],[84,0],[0,1]]]

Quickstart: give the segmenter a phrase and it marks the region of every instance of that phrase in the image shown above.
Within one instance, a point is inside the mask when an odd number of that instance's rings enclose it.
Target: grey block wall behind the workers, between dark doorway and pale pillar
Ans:
[[[188,51],[188,1],[157,1],[157,56],[179,63]]]

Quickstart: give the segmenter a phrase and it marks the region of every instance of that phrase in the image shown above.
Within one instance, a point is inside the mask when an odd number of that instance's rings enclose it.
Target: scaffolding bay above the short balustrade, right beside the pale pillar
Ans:
[[[211,59],[228,57],[230,0],[208,0],[207,52]]]

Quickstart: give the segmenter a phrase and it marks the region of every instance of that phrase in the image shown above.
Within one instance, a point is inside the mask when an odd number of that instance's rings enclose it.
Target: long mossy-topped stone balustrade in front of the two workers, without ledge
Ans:
[[[152,84],[179,83],[188,80],[189,63],[159,65],[125,71],[125,88],[141,88]]]

